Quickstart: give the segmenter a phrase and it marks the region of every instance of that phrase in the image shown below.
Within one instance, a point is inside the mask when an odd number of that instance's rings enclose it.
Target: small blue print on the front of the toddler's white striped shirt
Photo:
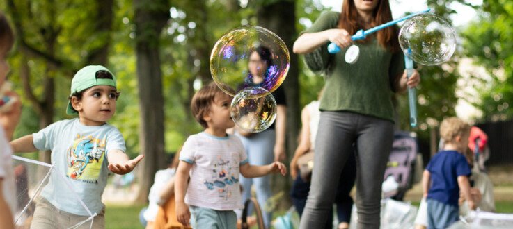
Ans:
[[[214,164],[214,169],[212,169],[212,180],[205,180],[203,184],[207,189],[215,190],[218,192],[219,197],[227,200],[232,196],[230,186],[239,183],[239,179],[235,178],[238,174],[234,174],[232,171],[239,173],[238,169],[233,169],[233,167],[230,166],[230,161],[225,161],[219,156],[217,162]],[[236,185],[236,187],[238,188],[239,185]]]

